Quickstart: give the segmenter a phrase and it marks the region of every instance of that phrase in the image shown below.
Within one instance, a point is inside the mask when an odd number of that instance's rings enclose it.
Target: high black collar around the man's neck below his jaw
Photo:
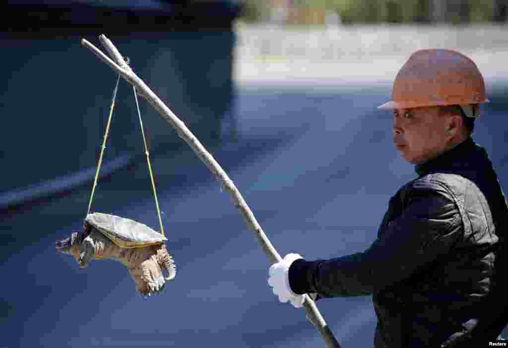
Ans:
[[[469,136],[467,140],[463,141],[453,149],[443,152],[436,158],[427,162],[417,164],[415,166],[415,171],[422,177],[432,172],[453,173],[460,172],[464,169],[470,170],[472,169],[471,166],[474,165],[474,160],[471,161],[471,157],[476,154],[475,150],[477,149],[484,150],[473,141],[472,137]]]

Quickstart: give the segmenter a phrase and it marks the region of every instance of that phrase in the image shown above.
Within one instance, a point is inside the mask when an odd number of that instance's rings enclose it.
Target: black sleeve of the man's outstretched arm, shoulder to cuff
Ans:
[[[463,232],[462,218],[440,184],[416,181],[405,194],[405,209],[361,253],[330,260],[295,261],[292,290],[320,297],[360,296],[380,291],[425,269],[447,254]]]

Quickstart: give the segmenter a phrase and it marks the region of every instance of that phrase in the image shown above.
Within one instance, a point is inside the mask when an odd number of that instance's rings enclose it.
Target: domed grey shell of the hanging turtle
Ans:
[[[142,248],[168,240],[150,227],[116,215],[93,213],[85,219],[120,248]]]

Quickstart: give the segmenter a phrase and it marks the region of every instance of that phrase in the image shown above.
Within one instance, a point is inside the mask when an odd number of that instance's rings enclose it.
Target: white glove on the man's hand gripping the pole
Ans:
[[[280,302],[291,301],[291,304],[297,308],[303,305],[303,295],[297,295],[289,286],[289,267],[291,264],[302,257],[300,254],[288,254],[282,261],[274,263],[268,270],[268,284],[273,288],[273,293],[279,297]]]

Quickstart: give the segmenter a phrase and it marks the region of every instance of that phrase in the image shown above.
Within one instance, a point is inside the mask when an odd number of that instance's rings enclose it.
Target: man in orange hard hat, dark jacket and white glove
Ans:
[[[367,250],[317,261],[289,254],[268,283],[296,307],[305,293],[372,294],[376,348],[488,346],[508,323],[508,207],[471,138],[489,101],[483,77],[458,52],[421,50],[400,69],[392,99],[379,108],[393,111],[393,142],[418,178],[390,199]]]

